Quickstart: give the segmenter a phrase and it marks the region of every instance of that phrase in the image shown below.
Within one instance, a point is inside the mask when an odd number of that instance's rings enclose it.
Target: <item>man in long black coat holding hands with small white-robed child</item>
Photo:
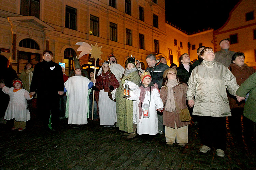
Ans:
[[[37,93],[37,109],[44,128],[48,129],[52,113],[52,130],[55,130],[59,124],[59,95],[63,95],[64,81],[61,66],[52,59],[52,51],[43,52],[43,61],[34,67],[30,94]]]

